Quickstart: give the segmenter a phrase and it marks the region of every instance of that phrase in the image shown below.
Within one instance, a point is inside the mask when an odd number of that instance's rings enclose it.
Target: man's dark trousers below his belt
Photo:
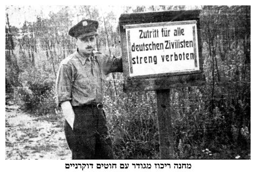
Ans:
[[[106,116],[102,108],[75,106],[73,130],[65,120],[66,141],[72,159],[113,159],[112,143],[107,133]]]

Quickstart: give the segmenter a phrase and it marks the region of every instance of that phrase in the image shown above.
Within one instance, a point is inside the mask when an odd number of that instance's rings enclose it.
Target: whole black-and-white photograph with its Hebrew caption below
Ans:
[[[251,160],[251,6],[6,5],[5,160]]]

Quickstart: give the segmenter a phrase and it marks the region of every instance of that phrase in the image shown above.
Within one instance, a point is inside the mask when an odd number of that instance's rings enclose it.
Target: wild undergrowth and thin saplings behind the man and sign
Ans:
[[[11,7],[9,7],[11,8]],[[15,7],[12,7],[15,8]],[[18,8],[18,7],[17,7]],[[183,10],[186,6],[125,6],[123,13]],[[204,86],[171,89],[177,159],[234,159],[251,155],[251,9],[250,6],[202,6]],[[120,56],[118,18],[98,6],[63,6],[49,18],[37,16],[21,28],[11,25],[6,8],[6,104],[55,116],[55,79],[62,59],[75,50],[68,36],[74,18],[98,20],[98,49]],[[158,123],[154,92],[124,93],[122,73],[105,81],[104,109],[117,159],[158,159]]]

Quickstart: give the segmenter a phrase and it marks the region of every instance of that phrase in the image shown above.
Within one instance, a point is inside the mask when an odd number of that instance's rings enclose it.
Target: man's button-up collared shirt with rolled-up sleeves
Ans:
[[[96,52],[83,57],[78,51],[62,60],[56,80],[57,105],[70,100],[72,106],[97,104],[103,100],[105,74],[123,72],[122,59]]]

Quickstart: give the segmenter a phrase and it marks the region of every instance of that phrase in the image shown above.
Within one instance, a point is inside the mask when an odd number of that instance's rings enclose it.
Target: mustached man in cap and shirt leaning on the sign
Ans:
[[[97,52],[98,22],[85,19],[69,30],[77,51],[62,60],[56,80],[66,141],[72,159],[113,159],[102,109],[104,74],[123,72],[122,59]]]

